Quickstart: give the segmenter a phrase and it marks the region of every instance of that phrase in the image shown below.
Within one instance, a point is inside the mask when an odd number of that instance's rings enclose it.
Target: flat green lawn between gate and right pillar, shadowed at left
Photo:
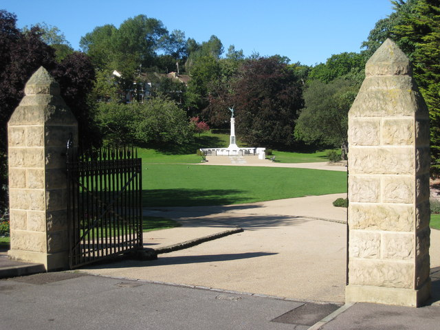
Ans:
[[[347,191],[347,174],[252,166],[143,164],[144,206],[253,203]]]

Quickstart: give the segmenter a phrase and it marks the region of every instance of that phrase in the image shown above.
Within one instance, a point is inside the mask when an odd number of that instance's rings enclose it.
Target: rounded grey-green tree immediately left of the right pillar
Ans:
[[[330,83],[312,80],[304,92],[305,108],[300,111],[295,137],[309,144],[318,143],[348,152],[348,113],[359,91],[353,80],[336,79]]]

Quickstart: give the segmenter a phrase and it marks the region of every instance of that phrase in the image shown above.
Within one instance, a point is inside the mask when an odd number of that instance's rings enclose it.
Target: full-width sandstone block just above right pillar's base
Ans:
[[[414,287],[415,263],[378,259],[350,259],[350,284],[376,287]]]

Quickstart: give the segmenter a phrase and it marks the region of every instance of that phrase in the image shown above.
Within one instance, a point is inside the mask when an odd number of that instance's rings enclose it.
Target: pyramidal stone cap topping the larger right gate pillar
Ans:
[[[408,57],[397,45],[386,39],[365,65],[365,76],[405,76],[412,74]]]

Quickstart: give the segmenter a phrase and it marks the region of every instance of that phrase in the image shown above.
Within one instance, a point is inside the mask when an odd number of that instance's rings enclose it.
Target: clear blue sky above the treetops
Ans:
[[[389,0],[0,0],[0,9],[17,14],[17,25],[45,22],[58,27],[75,49],[96,26],[145,14],[168,31],[182,30],[197,42],[215,34],[228,50],[245,56],[279,54],[291,63],[316,65],[332,54],[359,52]]]

